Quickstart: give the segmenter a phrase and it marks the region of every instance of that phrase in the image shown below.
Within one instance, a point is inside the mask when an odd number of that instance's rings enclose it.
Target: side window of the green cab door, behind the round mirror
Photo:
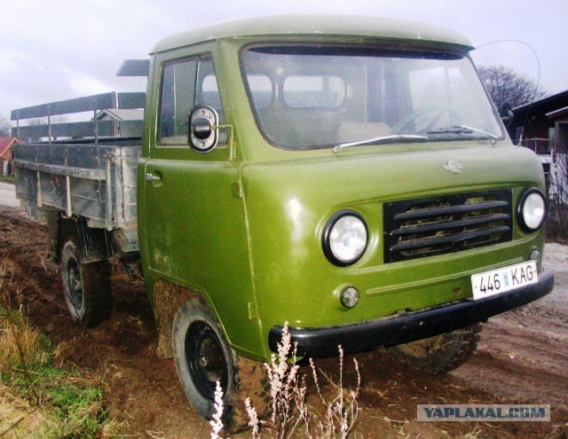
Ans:
[[[193,106],[213,106],[223,121],[211,59],[184,59],[162,68],[158,145],[187,145],[187,115]]]

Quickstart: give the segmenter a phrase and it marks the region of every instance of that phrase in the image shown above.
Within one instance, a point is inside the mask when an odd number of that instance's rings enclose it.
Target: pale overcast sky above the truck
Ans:
[[[568,90],[566,0],[0,0],[0,116],[106,91],[142,91],[115,77],[172,33],[279,13],[344,13],[413,20],[466,35],[477,65],[501,64],[550,93]],[[519,40],[523,43],[499,40]],[[528,45],[528,46],[527,46]],[[481,47],[485,46],[485,47]],[[530,47],[529,47],[530,46]],[[531,49],[532,48],[532,49]]]

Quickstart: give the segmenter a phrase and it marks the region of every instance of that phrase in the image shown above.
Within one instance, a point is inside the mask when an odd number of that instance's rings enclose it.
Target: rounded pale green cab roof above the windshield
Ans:
[[[155,44],[153,53],[237,37],[312,35],[396,38],[420,42],[449,43],[472,49],[465,36],[441,27],[411,21],[356,15],[277,15],[230,20],[170,35]]]

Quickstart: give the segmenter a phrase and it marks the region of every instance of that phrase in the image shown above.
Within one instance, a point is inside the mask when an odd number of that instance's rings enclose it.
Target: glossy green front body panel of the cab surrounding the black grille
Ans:
[[[497,246],[384,263],[386,201],[488,187],[512,188],[517,200],[527,186],[542,188],[538,158],[523,148],[508,142],[455,146],[432,151],[422,145],[399,153],[375,146],[342,157],[329,153],[317,160],[246,165],[243,188],[264,329],[284,320],[299,327],[342,325],[470,297],[471,274],[525,260],[531,248],[541,249],[541,233],[526,235],[516,225],[514,239]],[[463,163],[459,175],[443,168],[453,158]],[[508,166],[511,162],[516,166]],[[344,208],[365,218],[369,245],[358,263],[336,267],[323,254],[321,236],[327,219]],[[352,310],[339,302],[344,286],[361,293]]]

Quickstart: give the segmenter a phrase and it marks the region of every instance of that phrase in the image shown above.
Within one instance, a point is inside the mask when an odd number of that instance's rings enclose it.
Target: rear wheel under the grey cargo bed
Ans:
[[[105,320],[112,309],[110,263],[82,263],[75,239],[67,239],[61,265],[65,302],[73,320],[86,327]]]

